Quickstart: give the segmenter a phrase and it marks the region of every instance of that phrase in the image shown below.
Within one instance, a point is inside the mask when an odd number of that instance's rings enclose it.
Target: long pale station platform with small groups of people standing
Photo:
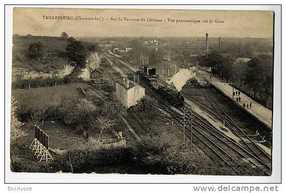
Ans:
[[[205,71],[198,71],[199,74],[210,84],[212,84],[213,87],[215,87],[217,90],[219,90],[222,94],[224,94],[226,97],[229,97],[233,100],[235,104],[237,104],[240,108],[243,109],[243,103],[245,103],[244,110],[251,114],[253,117],[258,119],[260,122],[265,124],[270,130],[272,130],[272,111],[268,108],[264,107],[263,105],[259,104],[252,98],[248,97],[244,93],[240,91],[240,102],[237,102],[237,96],[234,96],[233,98],[233,91],[236,92],[238,90],[234,89],[229,83],[224,83],[220,79],[211,76],[210,73]],[[246,104],[250,104],[252,102],[251,108],[247,108]]]

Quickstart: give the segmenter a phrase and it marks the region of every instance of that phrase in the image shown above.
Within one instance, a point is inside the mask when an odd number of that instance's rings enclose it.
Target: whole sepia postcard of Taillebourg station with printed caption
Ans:
[[[14,7],[12,25],[12,173],[272,175],[273,11]]]

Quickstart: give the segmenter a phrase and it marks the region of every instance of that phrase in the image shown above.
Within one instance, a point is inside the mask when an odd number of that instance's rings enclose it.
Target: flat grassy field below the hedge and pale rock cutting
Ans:
[[[85,83],[72,83],[68,86],[40,87],[31,89],[12,89],[12,96],[18,101],[19,110],[32,108],[43,110],[57,106],[63,98],[83,97],[79,87],[88,88]]]

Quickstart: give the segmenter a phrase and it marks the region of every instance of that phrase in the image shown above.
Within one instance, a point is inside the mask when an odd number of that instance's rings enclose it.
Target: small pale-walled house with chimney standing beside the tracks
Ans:
[[[127,108],[136,105],[144,96],[145,89],[133,81],[123,78],[116,83],[116,98]]]

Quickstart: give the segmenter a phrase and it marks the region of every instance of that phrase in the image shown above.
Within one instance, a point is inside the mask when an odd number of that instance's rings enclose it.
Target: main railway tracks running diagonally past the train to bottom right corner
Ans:
[[[112,58],[112,57],[111,57]],[[118,61],[118,60],[117,60]],[[132,69],[118,61],[117,65],[120,65],[120,69],[132,80],[135,74]],[[148,95],[155,97],[158,101],[157,106],[168,113],[170,113],[180,123],[183,123],[184,115],[181,109],[174,109],[166,101],[162,100],[151,88],[148,87],[144,82],[140,84],[145,88]],[[241,173],[248,173],[251,175],[251,171],[248,171],[245,167],[243,159],[248,160],[254,167],[260,168],[266,175],[271,175],[271,167],[268,166],[265,161],[259,159],[253,152],[247,150],[242,145],[238,145],[232,139],[217,130],[214,126],[203,120],[199,115],[193,112],[193,117],[189,115],[185,117],[187,119],[186,128],[191,132],[191,120],[192,122],[192,134],[195,138],[201,141],[209,149],[211,149],[218,157],[220,157],[225,163],[227,163],[238,175]],[[217,116],[219,113],[217,112]],[[246,145],[249,146],[249,145]],[[253,148],[252,148],[253,150]],[[257,152],[256,152],[257,153]],[[256,154],[255,153],[255,154]],[[235,154],[235,155],[233,155]]]

